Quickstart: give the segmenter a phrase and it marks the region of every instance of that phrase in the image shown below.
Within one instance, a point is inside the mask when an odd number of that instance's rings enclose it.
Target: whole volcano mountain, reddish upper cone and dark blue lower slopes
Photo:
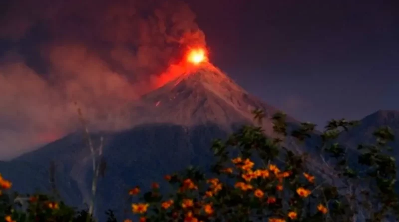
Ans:
[[[242,124],[253,124],[252,111],[265,112],[263,127],[272,133],[270,117],[277,109],[250,95],[222,71],[203,63],[184,72],[158,89],[143,95],[133,104],[135,122],[131,129],[119,132],[94,134],[105,137],[103,156],[107,163],[106,174],[98,183],[96,214],[103,215],[114,209],[124,217],[121,209],[129,208],[128,190],[132,186],[149,187],[162,181],[165,174],[185,169],[189,165],[209,166],[214,139],[225,139]],[[297,124],[294,118],[287,118]],[[293,146],[298,152],[303,146]],[[9,163],[4,177],[14,182],[14,188],[31,192],[28,188],[50,189],[48,167],[56,162],[57,180],[66,185],[59,187],[60,194],[75,206],[88,203],[91,190],[91,153],[80,133],[74,133],[40,149],[24,154]],[[10,171],[17,163],[18,171]],[[10,165],[13,164],[13,165]],[[32,167],[33,166],[33,167]],[[25,182],[23,169],[41,172],[41,178]],[[1,169],[0,169],[1,170]],[[17,172],[17,173],[15,173]],[[25,175],[29,177],[29,175]],[[21,179],[22,178],[22,179]]]

